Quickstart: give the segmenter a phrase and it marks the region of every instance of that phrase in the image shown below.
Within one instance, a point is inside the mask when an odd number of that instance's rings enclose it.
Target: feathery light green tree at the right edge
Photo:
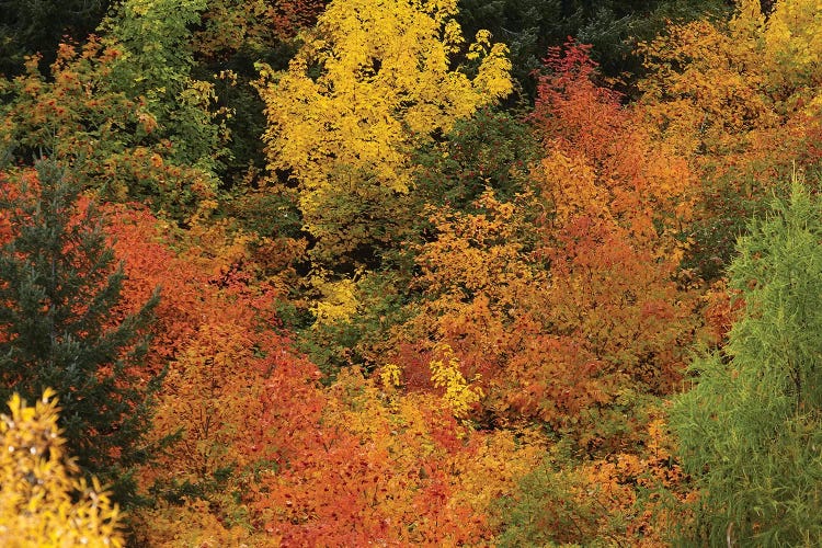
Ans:
[[[703,488],[692,540],[822,543],[822,201],[800,183],[740,238],[730,285],[743,317],[671,422]]]

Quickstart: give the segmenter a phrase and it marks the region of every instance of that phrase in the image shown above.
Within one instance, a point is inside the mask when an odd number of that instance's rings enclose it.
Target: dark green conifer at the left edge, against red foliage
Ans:
[[[118,308],[124,273],[101,217],[59,164],[0,178],[0,399],[54,388],[81,469],[133,502],[162,377],[139,367],[159,293]]]

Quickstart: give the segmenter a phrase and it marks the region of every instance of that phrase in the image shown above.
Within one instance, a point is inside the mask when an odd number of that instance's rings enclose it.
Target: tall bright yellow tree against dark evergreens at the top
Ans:
[[[315,262],[373,265],[408,229],[411,150],[511,92],[506,47],[487,31],[466,44],[456,13],[457,0],[333,0],[287,71],[262,67],[269,169],[296,183]]]

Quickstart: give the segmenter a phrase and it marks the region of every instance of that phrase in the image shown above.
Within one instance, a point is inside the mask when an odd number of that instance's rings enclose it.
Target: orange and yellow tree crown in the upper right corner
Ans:
[[[758,1],[744,0],[728,22],[671,26],[640,47],[650,69],[640,85],[647,113],[678,134],[685,153],[755,146],[757,134],[813,109],[815,14],[812,1],[786,0],[765,18]]]

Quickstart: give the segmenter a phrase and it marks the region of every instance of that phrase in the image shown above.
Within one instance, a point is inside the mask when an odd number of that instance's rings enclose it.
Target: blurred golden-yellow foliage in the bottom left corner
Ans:
[[[0,545],[123,546],[117,505],[65,453],[54,391],[34,407],[15,393],[9,410],[0,415]]]

